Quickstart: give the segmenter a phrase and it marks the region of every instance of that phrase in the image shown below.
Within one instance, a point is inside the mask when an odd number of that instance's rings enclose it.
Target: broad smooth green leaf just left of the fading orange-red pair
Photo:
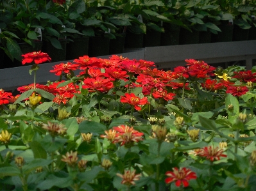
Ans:
[[[81,133],[92,133],[92,134],[104,134],[104,131],[107,130],[105,125],[97,123],[94,121],[82,121],[79,124],[79,130]]]

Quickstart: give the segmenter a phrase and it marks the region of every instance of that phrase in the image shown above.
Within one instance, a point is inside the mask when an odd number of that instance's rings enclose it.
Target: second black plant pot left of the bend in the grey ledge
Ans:
[[[122,54],[124,52],[124,42],[126,33],[117,34],[115,39],[110,39],[109,55]]]

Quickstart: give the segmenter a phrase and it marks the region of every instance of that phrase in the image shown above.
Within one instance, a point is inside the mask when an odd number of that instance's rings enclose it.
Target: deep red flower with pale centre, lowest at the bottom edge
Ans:
[[[185,167],[178,169],[177,167],[173,168],[173,171],[167,171],[166,176],[166,183],[169,184],[175,181],[176,187],[180,187],[183,185],[184,187],[189,186],[189,180],[196,179],[196,173],[192,172],[190,169]]]

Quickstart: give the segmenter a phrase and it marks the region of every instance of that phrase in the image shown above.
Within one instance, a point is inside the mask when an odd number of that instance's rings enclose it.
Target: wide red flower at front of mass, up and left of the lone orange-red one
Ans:
[[[82,88],[90,88],[89,91],[100,91],[100,92],[106,92],[109,91],[111,88],[113,88],[113,83],[110,82],[109,79],[103,79],[101,77],[96,77],[95,79],[85,79],[83,81],[85,85],[82,86]]]

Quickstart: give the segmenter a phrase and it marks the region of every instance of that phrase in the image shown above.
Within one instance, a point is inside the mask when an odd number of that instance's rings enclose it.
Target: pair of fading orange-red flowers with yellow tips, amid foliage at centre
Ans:
[[[106,135],[101,135],[102,138],[107,138],[109,141],[121,142],[122,145],[130,145],[133,142],[142,141],[142,136],[144,135],[141,132],[133,129],[133,127],[127,125],[119,125],[113,127],[108,131],[105,131]]]

